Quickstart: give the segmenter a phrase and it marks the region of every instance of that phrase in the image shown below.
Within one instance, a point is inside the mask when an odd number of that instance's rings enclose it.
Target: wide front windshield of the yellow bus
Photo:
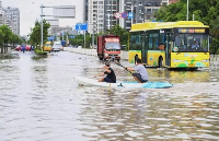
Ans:
[[[174,52],[206,52],[208,49],[207,34],[178,34],[175,36]]]

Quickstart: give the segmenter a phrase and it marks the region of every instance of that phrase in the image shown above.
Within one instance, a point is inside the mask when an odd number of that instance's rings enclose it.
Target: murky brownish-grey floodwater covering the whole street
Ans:
[[[123,66],[132,64],[120,61]],[[159,90],[79,86],[102,72],[97,57],[68,51],[0,60],[0,141],[218,141],[219,73],[148,68]],[[112,63],[117,80],[132,81]]]

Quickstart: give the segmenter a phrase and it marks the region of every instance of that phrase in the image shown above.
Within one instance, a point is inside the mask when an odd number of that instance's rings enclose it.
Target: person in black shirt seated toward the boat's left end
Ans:
[[[95,75],[94,78],[102,77],[99,80],[99,82],[116,83],[116,74],[115,74],[114,70],[111,68],[111,64],[105,63],[103,69],[104,69],[104,72]],[[106,74],[106,77],[104,78],[103,75],[105,75],[105,74]]]

